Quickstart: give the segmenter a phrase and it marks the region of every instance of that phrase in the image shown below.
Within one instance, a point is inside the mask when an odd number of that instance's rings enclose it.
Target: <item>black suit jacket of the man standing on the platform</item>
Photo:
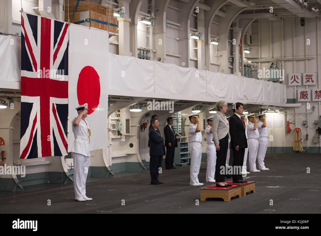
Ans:
[[[247,148],[246,130],[244,127],[245,124],[243,126],[243,122],[236,114],[230,117],[230,136],[233,148],[236,146],[239,146],[239,148]]]

